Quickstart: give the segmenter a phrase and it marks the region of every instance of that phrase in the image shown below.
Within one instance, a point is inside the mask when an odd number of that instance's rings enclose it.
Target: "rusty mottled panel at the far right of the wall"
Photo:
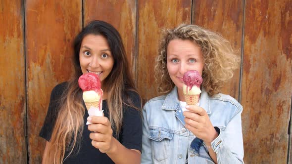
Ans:
[[[242,79],[246,163],[287,163],[291,27],[291,0],[246,1]]]

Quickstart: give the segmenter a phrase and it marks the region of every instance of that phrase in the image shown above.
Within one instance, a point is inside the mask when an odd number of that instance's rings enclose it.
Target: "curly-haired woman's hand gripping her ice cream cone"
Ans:
[[[206,111],[196,105],[187,105],[183,115],[185,118],[185,126],[192,133],[202,139],[205,143],[211,143],[217,136],[217,132],[213,127]]]

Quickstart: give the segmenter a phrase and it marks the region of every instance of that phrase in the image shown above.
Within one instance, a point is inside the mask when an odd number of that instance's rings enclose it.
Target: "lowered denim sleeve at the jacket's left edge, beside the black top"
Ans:
[[[146,109],[143,108],[143,136],[142,136],[142,164],[153,164],[151,155],[151,141],[148,138],[148,123]]]

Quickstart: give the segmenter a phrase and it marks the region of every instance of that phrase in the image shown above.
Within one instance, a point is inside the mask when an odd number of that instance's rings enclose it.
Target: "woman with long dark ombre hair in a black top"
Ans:
[[[140,163],[142,104],[118,31],[106,22],[92,21],[73,46],[74,76],[52,89],[40,132],[47,140],[43,164]],[[86,73],[99,76],[104,117],[88,115],[78,85]],[[86,121],[92,124],[87,127]]]

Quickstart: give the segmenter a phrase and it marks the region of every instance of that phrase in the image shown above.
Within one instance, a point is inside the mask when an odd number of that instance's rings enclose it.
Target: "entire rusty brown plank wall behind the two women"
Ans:
[[[291,163],[291,0],[0,0],[0,164],[41,163],[50,91],[94,19],[120,32],[144,101],[162,29],[195,23],[231,41],[242,67],[222,92],[243,105],[244,162]]]

